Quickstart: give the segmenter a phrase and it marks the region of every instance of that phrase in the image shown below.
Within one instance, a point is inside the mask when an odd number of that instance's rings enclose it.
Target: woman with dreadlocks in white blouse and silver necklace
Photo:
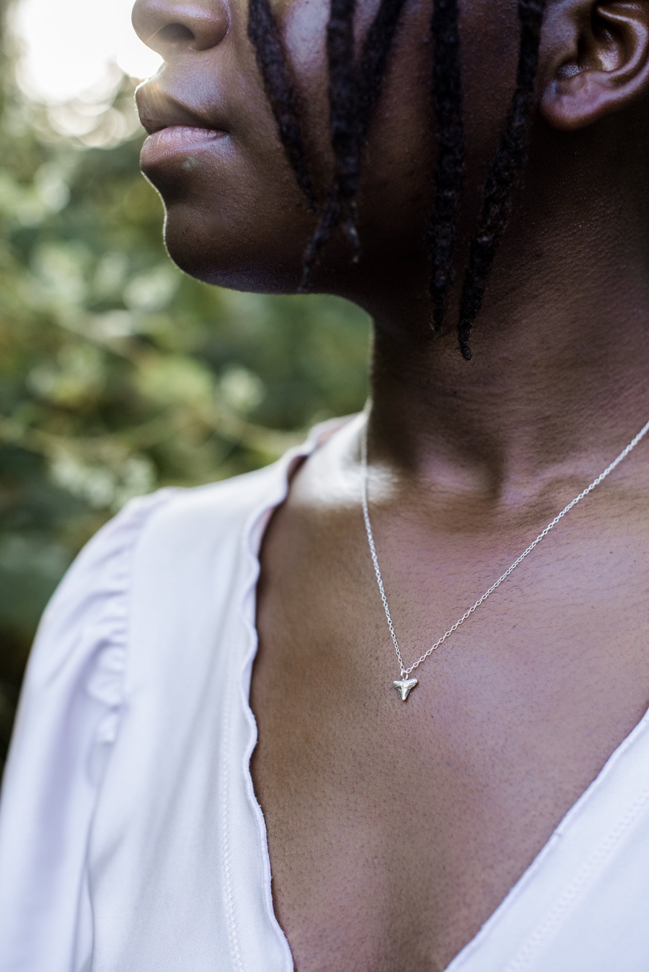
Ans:
[[[0,965],[639,972],[649,444],[455,622],[649,418],[649,2],[250,2],[136,3],[143,169],[188,273],[372,314],[373,403],[63,582]]]

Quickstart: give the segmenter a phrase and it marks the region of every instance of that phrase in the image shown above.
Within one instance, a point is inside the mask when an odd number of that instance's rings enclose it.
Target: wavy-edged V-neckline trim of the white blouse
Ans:
[[[251,643],[242,667],[243,691],[241,693],[241,698],[246,706],[246,715],[251,725],[254,727],[255,743],[256,719],[251,708],[251,678],[246,677],[246,673],[249,675],[252,674],[252,667],[255,662],[258,647],[258,636],[256,631],[256,585],[260,573],[261,544],[273,513],[282,503],[286,501],[289,495],[290,479],[299,463],[307,459],[313,452],[315,452],[323,444],[325,438],[328,438],[330,434],[337,432],[343,427],[343,425],[353,422],[358,418],[359,416],[352,416],[347,419],[333,419],[316,426],[301,446],[297,446],[296,448],[292,449],[282,460],[280,460],[276,466],[278,473],[276,479],[276,489],[272,491],[275,493],[275,495],[267,498],[267,502],[257,506],[253,515],[250,517],[247,529],[245,531],[244,541],[251,571],[249,573],[248,583],[242,599],[242,614],[246,620],[246,626],[249,630]],[[465,946],[463,946],[458,955],[456,955],[450,964],[446,966],[444,972],[488,972],[487,969],[483,968],[481,961],[481,953],[484,950],[484,947],[487,945],[488,941],[492,940],[497,934],[498,929],[502,926],[506,917],[511,915],[514,910],[520,906],[525,896],[529,895],[529,893],[533,890],[534,883],[538,883],[541,877],[547,872],[553,858],[555,858],[560,852],[561,846],[564,843],[564,838],[574,834],[579,825],[580,818],[583,816],[585,810],[592,807],[597,802],[598,796],[605,781],[614,773],[616,766],[618,766],[618,764],[622,761],[624,755],[644,736],[648,726],[649,709],[647,712],[645,712],[623,742],[611,753],[604,766],[598,773],[596,779],[589,784],[581,796],[565,813],[561,822],[555,828],[548,841],[534,856],[533,860],[523,872],[521,877],[515,882],[514,885],[512,885],[511,889],[496,907],[490,918],[484,922],[477,934],[470,939]],[[263,888],[264,898],[268,903],[270,918],[275,926],[275,931],[283,940],[283,944],[286,947],[286,955],[290,956],[290,965],[287,966],[285,972],[294,972],[294,963],[292,961],[290,943],[284,933],[283,928],[277,920],[277,916],[274,913],[272,905],[272,875],[270,868],[270,855],[266,840],[265,819],[258,800],[256,799],[256,792],[250,768],[250,757],[252,756],[253,748],[254,745],[249,746],[250,755],[245,761],[246,788],[251,799],[255,802],[257,819],[263,831],[263,872],[266,883],[266,886]],[[644,806],[649,804],[649,782],[647,783],[646,787],[644,787],[641,797],[642,798],[640,800],[635,801],[637,804],[638,813],[643,809]],[[632,822],[633,820],[630,817],[630,825]],[[539,921],[541,921],[543,917],[544,916],[539,913]],[[503,962],[506,962],[506,964],[498,966],[497,972],[519,972],[519,970],[527,967],[527,965],[521,964],[521,961],[517,957],[519,954],[523,955],[526,949],[528,949],[527,944],[524,944],[522,948],[513,946],[510,954],[503,955],[502,960]],[[489,972],[491,972],[491,968],[489,969]]]

